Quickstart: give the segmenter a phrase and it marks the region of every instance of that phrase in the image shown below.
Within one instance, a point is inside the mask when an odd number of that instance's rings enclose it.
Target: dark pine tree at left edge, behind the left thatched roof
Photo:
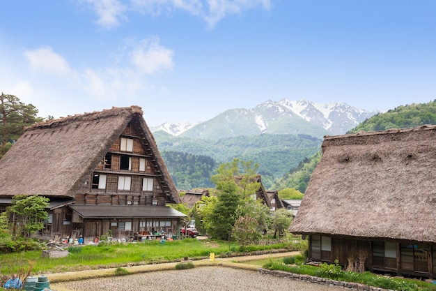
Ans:
[[[36,117],[38,110],[31,104],[24,104],[14,95],[0,95],[0,137],[1,149],[8,142],[13,143],[22,135],[26,126],[31,126],[43,119]]]

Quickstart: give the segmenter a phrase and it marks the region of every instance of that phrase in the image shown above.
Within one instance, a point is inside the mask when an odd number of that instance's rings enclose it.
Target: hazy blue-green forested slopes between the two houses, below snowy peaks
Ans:
[[[299,165],[321,147],[322,140],[309,135],[255,135],[199,140],[154,134],[176,187],[182,189],[210,187],[210,175],[221,163],[240,158],[259,164],[265,188],[272,181]]]

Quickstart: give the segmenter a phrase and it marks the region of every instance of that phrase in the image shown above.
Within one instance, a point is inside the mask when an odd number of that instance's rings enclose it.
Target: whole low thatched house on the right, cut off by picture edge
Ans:
[[[436,126],[327,136],[291,232],[309,259],[436,276]]]

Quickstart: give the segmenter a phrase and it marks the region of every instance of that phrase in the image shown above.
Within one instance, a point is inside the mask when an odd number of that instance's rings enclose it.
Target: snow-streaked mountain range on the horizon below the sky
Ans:
[[[173,136],[216,140],[240,135],[306,134],[322,138],[341,135],[380,111],[366,111],[346,103],[309,100],[267,100],[251,109],[230,109],[198,124],[167,122],[150,127]]]

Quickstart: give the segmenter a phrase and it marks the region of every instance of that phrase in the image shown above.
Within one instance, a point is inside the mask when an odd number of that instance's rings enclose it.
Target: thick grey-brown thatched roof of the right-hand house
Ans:
[[[291,231],[436,242],[436,126],[325,137]]]

